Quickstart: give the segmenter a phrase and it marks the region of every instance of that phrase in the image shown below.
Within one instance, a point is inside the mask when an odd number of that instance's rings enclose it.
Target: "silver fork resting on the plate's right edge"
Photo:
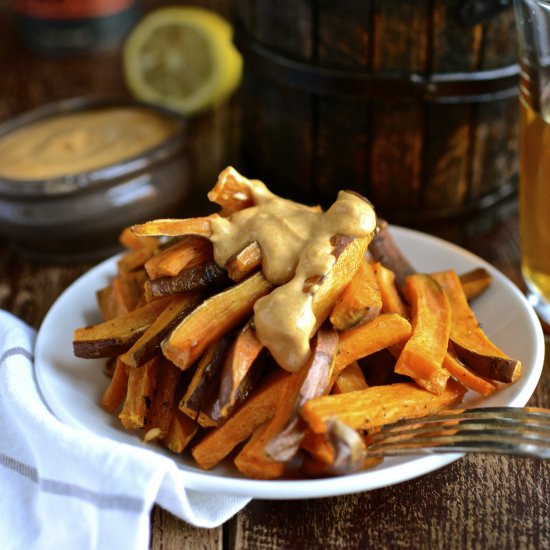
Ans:
[[[449,452],[550,458],[550,409],[453,409],[387,424],[367,438],[370,456]]]

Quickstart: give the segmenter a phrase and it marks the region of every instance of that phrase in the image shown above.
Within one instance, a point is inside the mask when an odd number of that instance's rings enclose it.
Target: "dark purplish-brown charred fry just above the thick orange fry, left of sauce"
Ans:
[[[159,277],[145,283],[145,293],[148,297],[158,298],[170,296],[190,290],[214,289],[227,286],[227,272],[215,262],[209,261],[201,265],[186,267],[177,275]]]

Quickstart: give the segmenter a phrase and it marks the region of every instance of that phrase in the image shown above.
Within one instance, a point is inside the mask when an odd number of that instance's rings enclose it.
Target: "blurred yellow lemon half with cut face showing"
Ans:
[[[146,15],[123,50],[126,84],[142,101],[185,115],[225,101],[238,87],[242,58],[233,28],[203,8],[174,6]]]

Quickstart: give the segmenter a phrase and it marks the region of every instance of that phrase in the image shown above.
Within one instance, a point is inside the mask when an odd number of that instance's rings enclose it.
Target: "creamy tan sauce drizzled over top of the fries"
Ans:
[[[297,371],[310,355],[316,325],[312,302],[318,285],[309,282],[334,265],[332,237],[372,237],[374,210],[354,193],[340,191],[336,202],[322,212],[278,197],[262,182],[228,170],[225,177],[249,186],[255,206],[212,221],[214,259],[223,266],[247,244],[259,244],[264,276],[280,286],[254,306],[256,335],[283,368]]]

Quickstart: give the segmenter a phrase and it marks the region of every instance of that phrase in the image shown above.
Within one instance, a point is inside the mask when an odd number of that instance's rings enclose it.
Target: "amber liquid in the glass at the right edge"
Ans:
[[[525,282],[534,304],[544,307],[546,302],[550,308],[550,107],[536,112],[525,97],[520,117],[520,234]]]

